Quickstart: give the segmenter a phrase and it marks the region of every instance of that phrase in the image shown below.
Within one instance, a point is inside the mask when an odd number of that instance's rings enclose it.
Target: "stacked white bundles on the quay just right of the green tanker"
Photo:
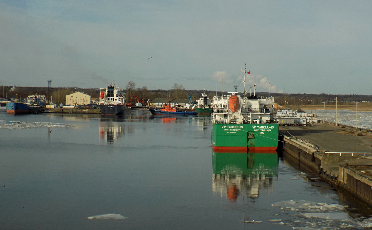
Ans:
[[[276,112],[276,119],[287,120],[287,123],[292,124],[307,124],[318,123],[318,117],[315,113],[298,113],[297,110],[278,110]],[[294,122],[291,122],[294,120]],[[279,122],[280,123],[280,122]]]

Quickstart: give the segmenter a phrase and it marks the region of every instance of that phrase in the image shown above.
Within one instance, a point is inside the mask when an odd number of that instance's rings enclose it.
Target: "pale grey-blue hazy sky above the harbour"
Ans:
[[[0,85],[371,94],[372,1],[0,0]],[[150,58],[153,56],[153,58]]]

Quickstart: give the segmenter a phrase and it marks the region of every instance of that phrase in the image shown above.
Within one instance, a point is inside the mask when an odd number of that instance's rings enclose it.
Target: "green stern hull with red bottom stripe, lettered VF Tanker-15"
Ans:
[[[278,148],[278,124],[212,124],[214,152],[265,152]]]

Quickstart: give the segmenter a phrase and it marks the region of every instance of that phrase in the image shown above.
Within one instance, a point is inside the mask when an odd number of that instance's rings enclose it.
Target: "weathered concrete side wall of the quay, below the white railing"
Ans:
[[[345,189],[372,205],[372,157],[330,155],[282,134],[282,149],[320,174],[333,187]]]

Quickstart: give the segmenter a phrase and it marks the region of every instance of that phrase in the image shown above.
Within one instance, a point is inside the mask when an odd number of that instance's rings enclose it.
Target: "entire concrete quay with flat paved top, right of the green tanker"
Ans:
[[[372,132],[334,123],[280,127],[279,147],[320,174],[372,205]],[[281,146],[282,144],[282,146]]]

